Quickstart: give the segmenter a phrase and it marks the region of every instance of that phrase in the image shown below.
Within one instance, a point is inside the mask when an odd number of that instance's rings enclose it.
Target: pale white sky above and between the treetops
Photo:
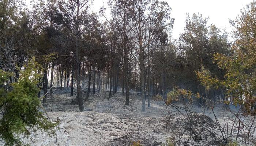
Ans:
[[[30,0],[26,0],[29,3]],[[172,36],[178,38],[185,27],[186,13],[192,15],[199,12],[203,17],[210,17],[208,23],[215,24],[218,28],[226,28],[228,32],[232,31],[229,19],[234,20],[240,9],[251,3],[253,0],[165,0],[172,7],[172,18],[174,18],[174,27]],[[92,10],[98,12],[99,8],[106,8],[105,15],[109,17],[108,0],[94,0]],[[28,4],[29,5],[29,4]]]

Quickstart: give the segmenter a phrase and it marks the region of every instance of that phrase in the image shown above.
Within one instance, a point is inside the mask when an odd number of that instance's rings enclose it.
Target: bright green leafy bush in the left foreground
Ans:
[[[39,111],[41,102],[37,94],[38,74],[41,66],[31,59],[24,69],[20,70],[19,80],[7,86],[8,78],[13,76],[12,72],[0,70],[0,137],[5,145],[23,145],[19,136],[24,134],[29,137],[31,132],[44,130],[49,135],[54,135],[54,127],[58,122],[50,122]],[[7,86],[7,88],[6,88]]]

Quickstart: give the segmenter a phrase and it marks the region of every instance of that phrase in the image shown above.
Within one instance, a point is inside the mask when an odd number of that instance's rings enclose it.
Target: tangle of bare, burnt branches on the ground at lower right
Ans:
[[[191,110],[189,103],[181,100],[181,105],[169,104],[177,112],[166,116],[166,128],[173,130],[175,144],[180,145],[182,138],[196,142],[204,141],[209,145],[226,145],[230,141],[237,141],[242,145],[255,145],[255,116],[244,115],[241,110],[233,112],[229,109],[222,112],[223,117],[215,114],[210,107],[214,119]],[[175,120],[173,120],[175,119]]]

